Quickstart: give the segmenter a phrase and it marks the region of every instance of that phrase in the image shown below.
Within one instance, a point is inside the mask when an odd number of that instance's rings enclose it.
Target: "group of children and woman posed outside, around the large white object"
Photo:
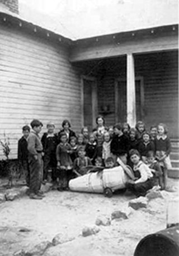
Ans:
[[[59,133],[55,133],[55,125],[50,122],[41,139],[43,124],[39,120],[32,120],[31,132],[28,125],[22,128],[18,160],[26,174],[30,198],[43,198],[41,182],[54,181],[58,190],[68,189],[70,179],[96,170],[93,166],[103,169],[119,165],[119,159],[134,171],[135,178],[128,181],[126,188],[136,196],[145,195],[153,185],[166,187],[166,170],[171,168],[166,125],[152,126],[149,132],[142,121],[135,128],[130,128],[128,123],[105,127],[101,116],[96,124],[93,132],[83,127],[76,134],[68,120],[63,121]]]

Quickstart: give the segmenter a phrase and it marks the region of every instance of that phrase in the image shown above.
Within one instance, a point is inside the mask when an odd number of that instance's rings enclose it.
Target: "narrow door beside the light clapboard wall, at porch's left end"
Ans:
[[[96,126],[97,115],[97,85],[94,77],[82,77],[83,126],[89,131]]]

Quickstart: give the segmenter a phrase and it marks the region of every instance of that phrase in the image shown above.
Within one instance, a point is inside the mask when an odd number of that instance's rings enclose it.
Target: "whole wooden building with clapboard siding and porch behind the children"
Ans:
[[[177,24],[71,40],[2,11],[0,31],[0,138],[12,158],[33,118],[57,131],[63,119],[92,129],[98,114],[107,125],[142,119],[178,137]]]

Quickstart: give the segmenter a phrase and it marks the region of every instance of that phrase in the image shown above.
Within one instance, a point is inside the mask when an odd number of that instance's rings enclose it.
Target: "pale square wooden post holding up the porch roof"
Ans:
[[[131,127],[136,123],[134,56],[127,55],[127,122]]]

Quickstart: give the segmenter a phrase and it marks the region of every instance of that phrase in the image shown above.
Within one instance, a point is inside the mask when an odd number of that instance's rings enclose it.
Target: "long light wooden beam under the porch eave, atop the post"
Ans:
[[[149,36],[148,38],[136,40],[131,37],[130,41],[119,43],[111,42],[110,44],[102,44],[101,42],[82,46],[77,45],[70,55],[71,62],[82,60],[100,59],[117,57],[126,54],[151,53],[163,50],[178,49],[177,35],[171,36]]]

